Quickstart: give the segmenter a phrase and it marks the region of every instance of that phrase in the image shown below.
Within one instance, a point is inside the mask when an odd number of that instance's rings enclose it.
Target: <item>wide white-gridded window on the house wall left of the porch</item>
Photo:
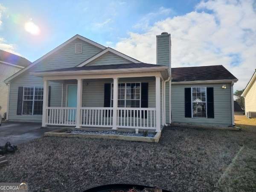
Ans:
[[[23,115],[42,115],[44,87],[23,88]]]

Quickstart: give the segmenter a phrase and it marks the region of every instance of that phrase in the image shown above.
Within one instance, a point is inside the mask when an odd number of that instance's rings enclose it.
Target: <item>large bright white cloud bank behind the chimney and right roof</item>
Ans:
[[[256,11],[253,1],[202,1],[193,12],[160,20],[143,34],[129,32],[116,49],[143,62],[156,62],[156,35],[170,32],[172,67],[222,64],[242,89],[256,68]]]

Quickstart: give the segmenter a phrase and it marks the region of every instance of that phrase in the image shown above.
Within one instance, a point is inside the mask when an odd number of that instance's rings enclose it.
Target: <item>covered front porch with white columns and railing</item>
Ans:
[[[44,79],[42,127],[54,125],[161,131],[161,125],[165,125],[163,82],[169,77],[166,67],[154,69],[153,72],[84,73],[88,72],[79,71],[76,76],[73,71],[65,75],[58,72],[33,73]],[[51,82],[62,84],[61,106],[48,104]],[[77,87],[76,94],[73,94],[75,99],[69,99],[72,94],[68,85]],[[50,92],[52,94],[54,90]],[[75,105],[70,106],[71,102]]]

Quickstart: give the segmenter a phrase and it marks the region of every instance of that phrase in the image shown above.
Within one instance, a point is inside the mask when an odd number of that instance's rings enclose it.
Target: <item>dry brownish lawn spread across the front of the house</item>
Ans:
[[[255,191],[256,127],[170,127],[159,143],[43,137],[18,146],[1,182],[31,191],[134,183],[172,191]]]

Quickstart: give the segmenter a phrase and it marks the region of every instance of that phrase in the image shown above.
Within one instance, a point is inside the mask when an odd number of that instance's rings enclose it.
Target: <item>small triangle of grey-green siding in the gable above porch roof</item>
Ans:
[[[132,63],[125,58],[122,58],[112,52],[107,52],[102,55],[100,58],[92,61],[91,63],[87,64],[87,66],[91,65],[111,65],[111,64],[128,64]]]

